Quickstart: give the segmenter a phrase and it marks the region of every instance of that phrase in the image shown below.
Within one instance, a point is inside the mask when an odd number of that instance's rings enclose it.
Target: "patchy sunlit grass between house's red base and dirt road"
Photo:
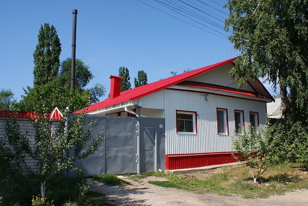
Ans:
[[[254,184],[249,168],[245,165],[216,168],[209,172],[192,173],[184,177],[174,173],[160,175],[169,181],[148,181],[161,187],[185,189],[195,192],[213,192],[224,196],[239,194],[244,198],[267,198],[287,191],[308,188],[308,173],[300,164],[280,164],[268,170]],[[141,176],[156,176],[155,173]]]

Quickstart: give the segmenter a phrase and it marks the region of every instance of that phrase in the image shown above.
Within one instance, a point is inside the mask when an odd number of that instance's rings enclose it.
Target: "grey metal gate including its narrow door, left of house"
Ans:
[[[98,126],[92,137],[100,133],[104,137],[95,154],[76,161],[75,165],[83,168],[84,176],[136,173],[137,118],[85,115],[86,122],[94,119],[97,119]],[[140,118],[140,172],[153,171],[155,164],[160,169],[165,169],[164,128],[163,118]],[[73,172],[68,174],[74,175]]]

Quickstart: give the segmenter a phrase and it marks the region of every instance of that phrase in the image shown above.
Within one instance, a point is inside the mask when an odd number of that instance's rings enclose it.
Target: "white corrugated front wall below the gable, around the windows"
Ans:
[[[234,109],[244,110],[245,125],[249,111],[258,112],[259,124],[265,128],[265,103],[196,92],[165,90],[166,154],[228,152],[235,129]],[[229,135],[217,135],[216,108],[228,110]],[[176,134],[176,110],[196,111],[198,134]]]

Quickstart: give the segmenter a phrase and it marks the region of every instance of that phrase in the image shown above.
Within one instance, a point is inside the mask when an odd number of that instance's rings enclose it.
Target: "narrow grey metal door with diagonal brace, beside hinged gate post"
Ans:
[[[154,171],[154,119],[140,118],[140,172]]]

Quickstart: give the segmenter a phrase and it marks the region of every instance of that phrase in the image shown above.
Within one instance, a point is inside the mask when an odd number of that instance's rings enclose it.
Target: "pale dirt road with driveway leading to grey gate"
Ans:
[[[182,206],[302,206],[308,205],[308,190],[286,192],[285,195],[270,196],[267,199],[244,199],[238,195],[220,196],[212,193],[197,194],[195,192],[179,190],[176,188],[162,188],[148,184],[149,180],[166,180],[161,177],[147,177],[142,183],[132,180],[132,185],[124,187],[107,186],[97,181],[91,181],[90,189],[95,192],[104,193],[112,204],[117,205],[182,205]]]

